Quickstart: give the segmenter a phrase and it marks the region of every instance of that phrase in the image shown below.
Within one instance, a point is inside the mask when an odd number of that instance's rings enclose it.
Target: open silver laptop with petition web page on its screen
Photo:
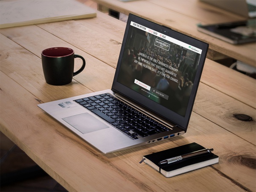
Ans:
[[[111,89],[38,107],[103,153],[182,135],[207,50],[202,41],[130,14]]]

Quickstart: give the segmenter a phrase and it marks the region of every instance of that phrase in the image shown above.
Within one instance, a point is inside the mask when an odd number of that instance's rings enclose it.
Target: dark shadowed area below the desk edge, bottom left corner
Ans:
[[[1,192],[67,192],[1,132],[0,141]]]

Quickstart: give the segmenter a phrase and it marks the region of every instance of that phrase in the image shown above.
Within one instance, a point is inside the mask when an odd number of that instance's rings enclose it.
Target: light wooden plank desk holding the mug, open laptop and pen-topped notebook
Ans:
[[[102,154],[37,104],[111,88],[125,23],[97,17],[0,30],[0,131],[69,191],[256,191],[256,81],[207,59],[186,134]],[[86,58],[65,86],[45,82],[41,51],[65,46]],[[79,66],[77,66],[79,67]],[[143,155],[197,142],[219,163],[166,178]]]

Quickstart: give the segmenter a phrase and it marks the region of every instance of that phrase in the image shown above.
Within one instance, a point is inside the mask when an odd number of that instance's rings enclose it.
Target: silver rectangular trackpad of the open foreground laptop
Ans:
[[[69,116],[63,118],[63,120],[72,125],[82,134],[109,128],[108,125],[105,125],[103,122],[99,121],[89,113],[81,113],[79,115]]]

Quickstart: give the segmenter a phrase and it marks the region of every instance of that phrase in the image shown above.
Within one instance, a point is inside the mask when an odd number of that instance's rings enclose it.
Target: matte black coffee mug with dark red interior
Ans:
[[[81,73],[85,67],[85,59],[76,55],[73,49],[67,47],[52,47],[41,52],[44,79],[48,84],[69,84],[73,76]],[[81,58],[82,67],[74,72],[75,58]]]

